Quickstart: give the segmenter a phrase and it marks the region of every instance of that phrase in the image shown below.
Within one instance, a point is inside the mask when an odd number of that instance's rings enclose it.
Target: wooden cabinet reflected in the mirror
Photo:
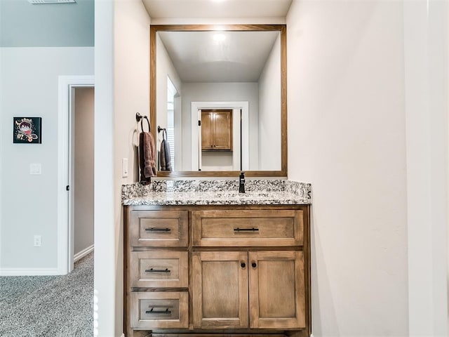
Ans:
[[[201,150],[232,150],[232,110],[201,110]]]

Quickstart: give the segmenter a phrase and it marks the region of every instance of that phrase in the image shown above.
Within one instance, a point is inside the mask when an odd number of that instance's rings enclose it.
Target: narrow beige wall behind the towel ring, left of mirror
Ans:
[[[114,4],[114,228],[115,335],[123,325],[123,208],[121,185],[138,181],[138,124],[135,113],[149,116],[149,24],[140,0]],[[129,175],[122,177],[121,160],[128,158]],[[108,336],[109,335],[104,335]]]

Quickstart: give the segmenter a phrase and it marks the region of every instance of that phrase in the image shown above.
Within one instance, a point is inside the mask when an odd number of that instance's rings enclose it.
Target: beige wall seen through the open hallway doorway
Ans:
[[[93,88],[75,89],[74,254],[93,245]]]

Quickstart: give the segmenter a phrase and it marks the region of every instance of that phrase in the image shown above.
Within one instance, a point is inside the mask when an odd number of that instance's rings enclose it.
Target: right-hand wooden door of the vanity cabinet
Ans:
[[[248,261],[250,328],[304,328],[304,253],[250,251]]]

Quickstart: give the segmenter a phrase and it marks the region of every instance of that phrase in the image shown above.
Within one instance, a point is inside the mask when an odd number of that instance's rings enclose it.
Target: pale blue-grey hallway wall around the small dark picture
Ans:
[[[0,48],[0,273],[57,272],[58,76],[92,75],[93,50]],[[13,117],[42,117],[42,143],[13,144]],[[41,174],[31,175],[30,164]]]

